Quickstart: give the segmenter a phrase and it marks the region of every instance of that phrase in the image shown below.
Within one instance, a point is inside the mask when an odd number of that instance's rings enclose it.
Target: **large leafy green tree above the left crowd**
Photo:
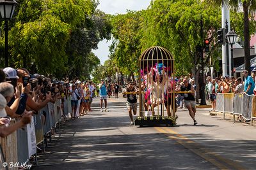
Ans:
[[[96,10],[97,5],[94,0],[20,0],[9,24],[11,65],[59,77],[90,78],[99,64],[91,51],[111,32],[109,15]],[[3,46],[2,35],[0,51]]]

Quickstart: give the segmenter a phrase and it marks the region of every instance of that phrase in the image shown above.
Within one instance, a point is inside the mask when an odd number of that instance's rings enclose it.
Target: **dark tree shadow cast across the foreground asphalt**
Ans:
[[[142,128],[138,129],[140,134],[107,134],[119,127],[128,127],[124,122],[126,118],[86,117],[67,122],[46,148],[49,154],[38,157],[39,164],[52,166],[35,169],[218,169],[160,132],[148,133],[147,128]],[[254,140],[216,140],[209,134],[170,135],[185,136],[202,148],[231,157],[231,161],[241,161],[245,167],[255,166]]]

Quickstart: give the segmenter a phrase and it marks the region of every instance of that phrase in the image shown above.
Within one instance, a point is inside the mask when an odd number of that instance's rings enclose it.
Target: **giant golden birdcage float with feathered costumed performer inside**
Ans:
[[[139,59],[140,115],[135,125],[175,125],[175,78],[173,55],[152,46]]]

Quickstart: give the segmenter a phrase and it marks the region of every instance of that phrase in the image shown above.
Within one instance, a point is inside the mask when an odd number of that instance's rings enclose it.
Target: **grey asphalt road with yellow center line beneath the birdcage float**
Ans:
[[[108,99],[63,125],[34,169],[255,169],[256,128],[198,109],[193,125],[178,110],[177,127],[130,126],[125,99]]]

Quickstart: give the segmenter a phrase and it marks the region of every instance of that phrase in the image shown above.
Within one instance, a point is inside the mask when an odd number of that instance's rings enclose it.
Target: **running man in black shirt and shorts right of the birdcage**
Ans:
[[[195,114],[196,114],[196,101],[195,101],[195,90],[193,86],[188,83],[187,79],[183,79],[184,85],[180,87],[180,91],[182,92],[191,92],[191,93],[185,93],[184,94],[184,103],[186,107],[188,108],[189,115],[194,121],[194,125],[197,125],[197,122],[195,120]]]

